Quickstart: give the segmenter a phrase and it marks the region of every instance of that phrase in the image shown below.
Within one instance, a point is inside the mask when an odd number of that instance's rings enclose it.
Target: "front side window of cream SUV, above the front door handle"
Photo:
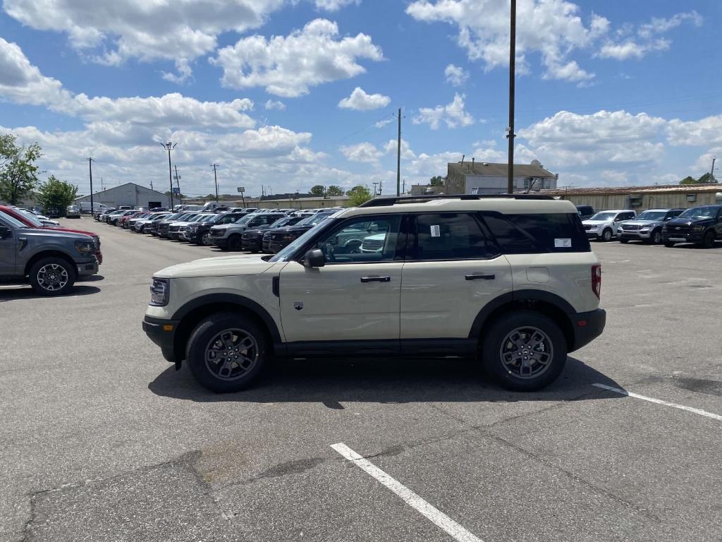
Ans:
[[[326,264],[393,262],[401,216],[358,217],[344,222],[313,246]]]

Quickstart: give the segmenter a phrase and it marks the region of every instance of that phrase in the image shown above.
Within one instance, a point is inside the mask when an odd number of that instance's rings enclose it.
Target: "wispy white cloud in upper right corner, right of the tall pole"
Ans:
[[[669,19],[653,17],[650,22],[640,25],[636,35],[632,35],[633,27],[625,25],[616,33],[616,39],[608,38],[599,49],[599,56],[602,59],[628,60],[642,59],[653,51],[666,51],[671,46],[671,40],[659,38],[673,28],[682,25],[684,22],[691,22],[699,27],[703,19],[695,11],[677,13]]]

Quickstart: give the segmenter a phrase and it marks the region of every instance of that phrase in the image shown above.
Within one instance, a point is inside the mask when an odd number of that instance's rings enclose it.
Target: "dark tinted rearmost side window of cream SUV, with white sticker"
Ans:
[[[591,251],[576,213],[503,215],[483,212],[482,217],[505,254]]]

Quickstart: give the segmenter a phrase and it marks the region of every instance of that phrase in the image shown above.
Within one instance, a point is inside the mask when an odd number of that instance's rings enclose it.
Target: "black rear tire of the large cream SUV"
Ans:
[[[541,347],[529,347],[530,356],[524,358],[529,363],[530,374],[523,375],[521,366],[523,354],[526,350],[513,350],[506,352],[507,363],[503,361],[503,351],[513,347],[513,332],[527,330],[526,333],[517,333],[522,343],[524,337],[529,337],[528,342],[536,337],[544,336],[544,344]],[[529,335],[531,330],[531,335]],[[535,335],[540,332],[540,335]],[[528,343],[527,343],[528,344]],[[546,350],[546,351],[545,351]],[[518,352],[518,354],[516,354]],[[517,358],[518,367],[514,367],[514,358]],[[533,358],[538,356],[538,360]],[[544,361],[542,361],[544,360]],[[533,392],[551,384],[560,375],[567,361],[567,341],[554,321],[544,314],[535,311],[515,311],[505,314],[496,322],[491,324],[489,329],[484,330],[482,340],[482,364],[484,371],[495,379],[507,390],[516,392]],[[532,370],[531,364],[534,364]],[[513,369],[520,369],[516,374]],[[536,375],[534,372],[536,371]]]

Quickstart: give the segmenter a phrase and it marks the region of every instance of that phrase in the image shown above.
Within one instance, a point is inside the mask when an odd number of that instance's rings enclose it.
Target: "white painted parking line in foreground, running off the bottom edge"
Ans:
[[[406,504],[416,509],[417,512],[427,517],[432,523],[438,525],[449,535],[453,536],[459,542],[482,542],[481,538],[469,533],[468,530],[461,527],[456,521],[452,520],[451,517],[445,515],[439,509],[432,507],[431,504],[426,502],[420,496],[414,493],[411,489],[404,486],[401,482],[388,476],[383,470],[378,468],[376,465],[371,463],[369,460],[365,460],[362,456],[358,455],[351,448],[349,448],[343,442],[338,444],[331,444],[331,448],[339,452],[351,463],[354,463],[357,467],[365,470],[367,474],[370,474],[380,483],[383,483],[388,489],[391,489],[396,495],[400,496]]]

